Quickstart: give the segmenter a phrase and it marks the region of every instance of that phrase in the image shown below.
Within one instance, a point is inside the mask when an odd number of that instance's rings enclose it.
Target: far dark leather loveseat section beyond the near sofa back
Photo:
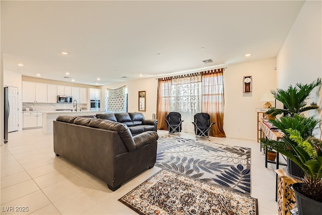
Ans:
[[[157,131],[157,119],[145,119],[139,112],[134,113],[98,113],[96,118],[108,119],[127,125],[133,136],[145,131]]]

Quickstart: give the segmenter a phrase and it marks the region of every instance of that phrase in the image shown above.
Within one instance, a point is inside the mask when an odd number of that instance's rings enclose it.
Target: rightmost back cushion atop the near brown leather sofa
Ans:
[[[89,126],[117,131],[127,150],[135,150],[133,136],[130,129],[125,124],[104,119],[92,119]]]

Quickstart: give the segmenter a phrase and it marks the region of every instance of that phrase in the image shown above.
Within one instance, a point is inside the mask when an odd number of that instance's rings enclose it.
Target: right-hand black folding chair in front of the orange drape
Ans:
[[[198,139],[198,136],[205,136],[210,141],[209,131],[211,126],[215,124],[214,122],[210,123],[210,115],[208,113],[196,113],[193,118],[192,124],[195,126],[196,139]]]

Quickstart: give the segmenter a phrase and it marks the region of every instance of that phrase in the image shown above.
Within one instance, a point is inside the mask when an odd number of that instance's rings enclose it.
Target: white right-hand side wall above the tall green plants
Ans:
[[[321,1],[306,1],[277,55],[277,87],[311,83],[322,73]]]

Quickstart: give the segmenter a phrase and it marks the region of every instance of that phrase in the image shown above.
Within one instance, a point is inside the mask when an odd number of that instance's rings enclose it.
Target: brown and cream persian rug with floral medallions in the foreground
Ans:
[[[165,169],[119,201],[139,214],[258,215],[256,198]]]

